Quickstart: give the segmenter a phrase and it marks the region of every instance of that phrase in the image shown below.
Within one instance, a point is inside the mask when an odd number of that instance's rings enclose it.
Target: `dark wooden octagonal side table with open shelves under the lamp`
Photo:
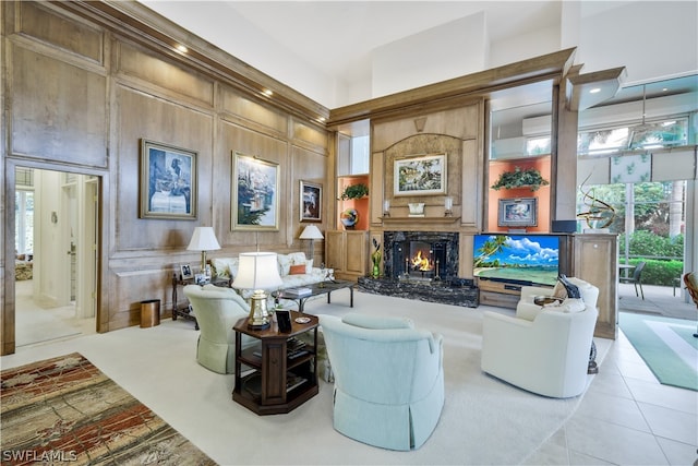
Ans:
[[[290,311],[291,331],[279,332],[275,320],[265,330],[248,328],[248,318],[232,327],[236,332],[236,386],[232,399],[260,416],[286,414],[318,393],[318,319]],[[300,322],[297,319],[300,319]],[[298,348],[296,336],[313,332],[313,345]],[[260,345],[242,349],[242,335],[260,339]],[[242,377],[242,365],[252,372]]]

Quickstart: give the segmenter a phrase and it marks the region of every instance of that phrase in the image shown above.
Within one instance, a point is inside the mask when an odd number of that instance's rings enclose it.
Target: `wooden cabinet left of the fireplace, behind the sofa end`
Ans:
[[[357,280],[369,270],[369,231],[330,230],[325,232],[325,261],[339,279]]]

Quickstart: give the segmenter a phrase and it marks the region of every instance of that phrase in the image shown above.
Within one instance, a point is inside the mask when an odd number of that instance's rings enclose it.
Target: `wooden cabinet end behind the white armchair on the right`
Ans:
[[[618,335],[617,236],[575,235],[574,273],[599,288],[599,319],[594,336],[615,339]]]

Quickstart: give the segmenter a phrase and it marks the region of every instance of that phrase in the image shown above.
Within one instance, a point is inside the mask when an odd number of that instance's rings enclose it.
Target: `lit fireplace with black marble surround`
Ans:
[[[441,280],[458,276],[458,234],[385,231],[384,276],[410,280]]]

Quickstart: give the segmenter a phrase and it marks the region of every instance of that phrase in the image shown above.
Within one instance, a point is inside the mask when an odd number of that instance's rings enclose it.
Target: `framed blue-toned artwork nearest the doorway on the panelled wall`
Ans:
[[[141,218],[196,218],[196,156],[193,151],[141,140]]]

